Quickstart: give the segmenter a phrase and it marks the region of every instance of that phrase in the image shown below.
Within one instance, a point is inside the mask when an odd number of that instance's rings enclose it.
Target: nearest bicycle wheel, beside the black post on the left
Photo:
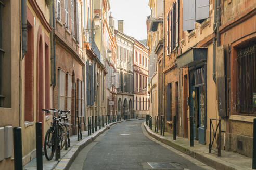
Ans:
[[[51,129],[48,129],[44,138],[44,154],[47,160],[51,160],[54,156],[54,135]]]

